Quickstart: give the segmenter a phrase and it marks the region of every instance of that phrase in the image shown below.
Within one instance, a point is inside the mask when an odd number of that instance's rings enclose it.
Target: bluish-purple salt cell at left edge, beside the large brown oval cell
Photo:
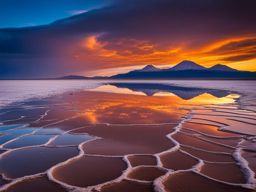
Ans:
[[[11,179],[45,172],[53,165],[78,154],[75,147],[30,147],[2,154],[1,173]]]

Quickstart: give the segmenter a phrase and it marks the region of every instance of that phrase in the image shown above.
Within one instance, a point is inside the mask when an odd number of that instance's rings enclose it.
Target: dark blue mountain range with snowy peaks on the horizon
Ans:
[[[147,65],[141,70],[134,70],[110,77],[111,79],[256,79],[256,72],[238,71],[226,65],[217,64],[205,68],[193,61],[182,61],[174,67],[159,69]]]

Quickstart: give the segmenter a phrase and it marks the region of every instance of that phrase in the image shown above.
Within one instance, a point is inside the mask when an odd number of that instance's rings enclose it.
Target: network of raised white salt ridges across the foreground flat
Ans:
[[[204,84],[204,83],[203,83]],[[222,85],[223,86],[223,85]],[[236,109],[236,107],[234,108]],[[246,110],[245,110],[246,111]],[[47,115],[47,114],[46,114]],[[66,120],[69,120],[69,119],[72,119],[74,117],[71,117],[71,118],[67,118],[67,119],[64,119],[64,120],[60,120],[58,122],[54,122],[54,123],[50,123],[49,125],[47,126],[51,126],[51,125],[54,125],[54,124],[57,124],[57,123],[60,123],[60,122],[63,122],[63,121],[66,121]],[[203,119],[204,120],[204,119]],[[157,178],[155,181],[154,181],[154,187],[156,189],[156,191],[165,191],[165,188],[164,188],[164,185],[163,185],[163,182],[172,174],[176,174],[176,173],[179,173],[179,172],[187,172],[187,171],[193,171],[209,180],[212,180],[212,181],[216,181],[216,182],[219,182],[219,183],[223,183],[223,184],[226,184],[226,185],[232,185],[232,186],[241,186],[241,187],[245,187],[245,188],[250,188],[250,189],[256,189],[256,180],[255,180],[255,173],[250,169],[249,165],[248,165],[248,162],[246,161],[245,158],[243,158],[242,156],[242,147],[238,147],[238,148],[233,148],[235,151],[234,153],[232,154],[233,157],[236,159],[236,161],[239,163],[243,173],[245,174],[246,178],[247,178],[247,182],[246,183],[229,183],[229,182],[224,182],[224,181],[220,181],[220,180],[217,180],[217,179],[214,179],[214,178],[211,178],[207,175],[204,175],[202,173],[200,173],[200,170],[202,168],[202,166],[204,165],[204,162],[207,162],[207,161],[203,161],[202,159],[196,157],[196,156],[193,156],[183,150],[180,149],[180,146],[186,146],[186,145],[182,145],[180,143],[178,143],[175,139],[172,138],[172,135],[178,133],[181,131],[181,128],[183,126],[183,124],[187,121],[193,121],[193,118],[191,116],[191,112],[187,114],[187,116],[175,127],[174,129],[174,132],[168,134],[166,137],[168,139],[170,139],[174,144],[175,146],[173,148],[170,148],[166,151],[163,151],[161,153],[158,153],[158,154],[153,154],[153,156],[156,157],[157,159],[157,166],[160,167],[160,168],[163,168],[164,170],[167,170],[167,174],[165,174],[164,176],[161,176],[159,178]],[[205,124],[208,124],[208,125],[214,125],[216,126],[216,123],[218,123],[218,126],[220,127],[220,129],[225,129],[226,126],[228,126],[227,124],[224,124],[222,122],[214,122],[214,121],[209,121],[209,120],[205,120]],[[108,124],[110,126],[115,126],[115,124],[109,124],[109,123],[105,123],[105,124]],[[163,123],[163,124],[173,124],[173,123]],[[204,123],[201,123],[201,124],[204,124]],[[125,124],[122,124],[122,125],[125,125]],[[129,124],[130,126],[136,126],[136,125],[141,125],[141,124]],[[150,124],[143,124],[143,125],[150,125]],[[161,125],[161,124],[157,124],[157,125]],[[46,127],[47,127],[46,126]],[[79,128],[76,128],[76,129],[72,129],[72,130],[77,130],[77,129],[80,129],[81,127]],[[70,131],[72,131],[70,130]],[[202,134],[200,132],[198,132],[198,134]],[[210,135],[207,135],[207,134],[204,134],[205,136],[210,136]],[[54,141],[57,137],[54,137],[54,138],[51,138],[45,145],[49,145],[52,141]],[[148,183],[146,181],[141,181],[141,180],[136,180],[136,179],[130,179],[130,178],[127,178],[127,175],[128,173],[134,169],[132,168],[129,160],[128,160],[128,156],[131,156],[131,155],[139,155],[139,154],[129,154],[129,155],[125,155],[125,156],[110,156],[110,155],[89,155],[89,156],[102,156],[102,157],[123,157],[124,161],[126,162],[127,164],[127,169],[122,173],[122,175],[114,180],[111,180],[111,181],[108,181],[108,182],[105,182],[105,183],[102,183],[102,184],[99,184],[99,185],[95,185],[95,186],[89,186],[89,187],[86,187],[86,188],[81,188],[81,187],[77,187],[77,186],[72,186],[72,185],[69,185],[69,184],[66,184],[66,183],[63,183],[57,179],[55,179],[52,175],[53,171],[55,168],[59,167],[59,166],[62,166],[62,165],[67,165],[69,162],[73,161],[73,160],[76,160],[78,158],[80,158],[81,156],[83,155],[88,155],[88,154],[85,154],[85,152],[82,150],[82,145],[88,143],[88,142],[91,142],[91,141],[94,141],[96,139],[100,139],[98,137],[95,137],[95,139],[93,140],[89,140],[89,141],[85,141],[83,143],[81,143],[79,145],[79,155],[73,157],[73,158],[70,158],[68,159],[67,161],[64,161],[64,162],[61,162],[53,167],[51,167],[49,170],[43,172],[43,173],[39,173],[39,174],[35,174],[35,175],[30,175],[30,176],[25,176],[25,177],[22,177],[22,178],[19,178],[19,179],[15,179],[15,180],[12,180],[11,183],[9,184],[6,184],[4,185],[2,188],[0,188],[0,191],[1,190],[4,190],[4,189],[8,189],[8,187],[12,186],[13,184],[17,183],[17,182],[20,182],[20,181],[23,181],[27,178],[35,178],[35,177],[38,177],[38,176],[41,176],[43,174],[47,174],[48,177],[50,178],[50,180],[52,180],[53,182],[56,182],[58,184],[60,184],[61,186],[65,187],[66,189],[68,189],[69,191],[79,191],[79,192],[83,192],[83,191],[91,191],[92,189],[98,189],[100,190],[102,186],[106,185],[106,184],[112,184],[114,182],[120,182],[121,180],[123,179],[127,179],[127,180],[130,180],[130,181],[136,181],[136,182],[139,182],[139,183]],[[223,145],[223,144],[220,144],[218,142],[212,142],[212,141],[209,141],[207,139],[205,139],[206,142],[210,142],[210,143],[213,143],[213,144],[217,144],[217,145]],[[242,143],[243,140],[241,140],[241,142],[239,144]],[[30,146],[31,147],[31,146]],[[202,149],[199,149],[199,148],[196,148],[196,147],[193,147],[193,146],[186,146],[186,147],[189,147],[191,149],[196,149],[196,150],[201,150],[201,151],[205,151],[205,152],[208,152],[208,153],[215,153],[215,154],[229,154],[231,155],[230,153],[225,153],[225,152],[213,152],[213,151],[208,151],[208,150],[202,150]],[[228,146],[226,146],[228,147]],[[230,147],[230,146],[229,146]],[[23,147],[25,148],[25,147]],[[14,150],[18,150],[18,149],[14,149]],[[161,162],[161,159],[160,159],[160,155],[161,154],[164,154],[164,153],[169,153],[169,152],[173,152],[173,151],[176,151],[176,150],[180,150],[182,153],[184,154],[187,154],[189,155],[190,157],[192,158],[195,158],[198,160],[198,163],[193,166],[192,168],[190,169],[186,169],[186,170],[178,170],[178,171],[173,171],[171,169],[166,169],[163,167],[162,165],[162,162]],[[10,151],[13,151],[13,150],[10,150]],[[0,155],[0,159],[2,158],[2,156],[4,156],[7,152],[3,153],[2,155]],[[145,155],[145,154],[143,154]],[[152,155],[152,154],[148,154],[148,155]],[[212,163],[216,163],[216,162],[212,162]],[[231,163],[231,162],[221,162],[221,163]],[[148,167],[146,165],[142,165],[140,167]],[[3,175],[3,178],[5,179],[9,179],[11,180],[10,178],[6,178],[4,175]]]

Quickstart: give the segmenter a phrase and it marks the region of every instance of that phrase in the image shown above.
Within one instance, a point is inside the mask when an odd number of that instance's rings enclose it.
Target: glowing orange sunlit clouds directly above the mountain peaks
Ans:
[[[92,35],[81,41],[80,48],[74,51],[74,55],[76,61],[99,64],[100,67],[95,67],[99,70],[89,73],[86,71],[87,75],[112,75],[149,63],[166,67],[166,65],[175,64],[184,59],[195,61],[206,67],[222,63],[239,70],[256,71],[254,64],[256,58],[252,52],[256,46],[243,44],[244,41],[250,40],[255,40],[255,37],[226,38],[193,47],[184,42],[170,47],[161,47],[160,44],[150,41],[134,39],[101,42],[98,35]],[[218,51],[222,47],[226,47],[225,50]]]

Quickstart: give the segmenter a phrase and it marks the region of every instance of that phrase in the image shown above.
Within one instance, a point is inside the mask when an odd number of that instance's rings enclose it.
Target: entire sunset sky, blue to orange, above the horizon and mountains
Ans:
[[[182,60],[256,71],[255,0],[0,0],[0,78]]]

